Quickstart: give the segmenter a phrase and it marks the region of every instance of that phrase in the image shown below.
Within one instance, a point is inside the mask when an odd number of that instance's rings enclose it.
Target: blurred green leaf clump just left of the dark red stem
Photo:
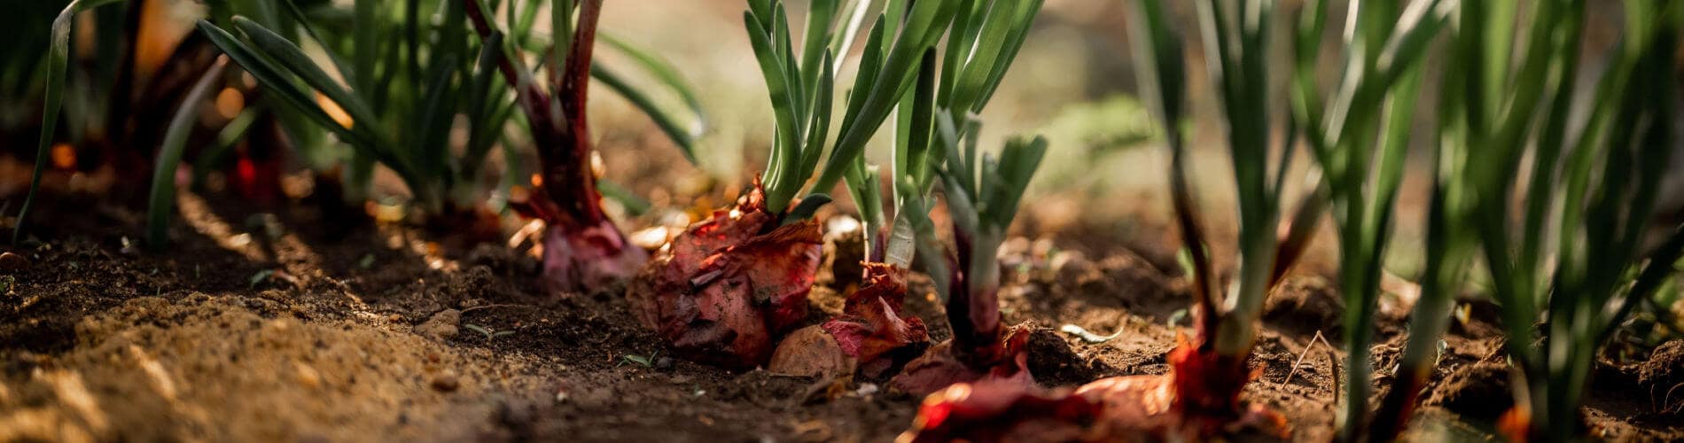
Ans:
[[[312,123],[354,147],[350,157],[344,158],[350,165],[347,190],[352,192],[352,200],[360,200],[355,197],[365,194],[374,179],[374,165],[379,163],[397,173],[416,205],[426,214],[445,217],[445,224],[463,226],[448,219],[453,214],[485,214],[477,204],[487,187],[480,184],[485,160],[492,148],[509,136],[505,130],[515,116],[517,104],[510,93],[517,89],[509,88],[510,79],[497,72],[498,64],[507,62],[502,57],[539,57],[542,61],[539,66],[547,66],[551,77],[561,76],[559,64],[564,57],[557,54],[562,54],[568,42],[549,42],[534,32],[536,17],[546,5],[556,12],[551,15],[552,29],[573,29],[568,22],[573,20],[573,13],[562,13],[571,10],[569,7],[549,2],[510,0],[507,5],[488,2],[487,10],[497,12],[502,7],[507,12],[504,19],[509,34],[482,40],[473,35],[466,12],[458,2],[413,0],[399,10],[362,0],[354,2],[350,10],[322,5],[315,13],[306,13],[295,3],[283,3],[281,8],[291,19],[283,27],[301,30],[293,39],[244,17],[231,22],[246,39],[236,39],[207,22],[200,24],[200,30],[269,91],[305,113]],[[350,15],[349,24],[344,22],[345,13]],[[322,19],[310,19],[312,15]],[[338,22],[333,24],[335,20]],[[323,27],[318,22],[333,25]],[[305,39],[300,37],[310,37],[320,56],[305,54],[300,45]],[[515,51],[509,52],[502,39],[507,39]],[[606,67],[591,69],[591,74],[608,79],[605,84],[653,116],[685,157],[690,157],[692,140],[702,128],[694,93],[669,64],[648,51],[620,40],[611,47],[630,54],[633,66],[652,72],[648,76],[658,79],[658,86],[684,98],[692,116],[680,121],[680,116],[655,104],[650,91],[630,84]],[[524,61],[517,64],[524,66]],[[330,71],[337,72],[338,79],[328,74]],[[509,150],[517,143],[551,141],[509,140],[502,143],[504,158],[515,157]],[[549,148],[539,147],[539,150]],[[578,155],[584,158],[574,160],[588,170],[593,150],[586,148]],[[515,162],[504,165],[519,168]],[[509,170],[504,177],[522,177],[522,173]],[[473,226],[472,219],[466,226]],[[490,226],[495,234],[497,224]]]

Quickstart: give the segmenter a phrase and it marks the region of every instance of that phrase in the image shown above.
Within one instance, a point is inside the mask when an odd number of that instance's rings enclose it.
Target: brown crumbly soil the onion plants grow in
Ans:
[[[47,200],[35,221],[49,241],[0,259],[12,281],[0,293],[0,441],[889,441],[919,403],[881,381],[667,357],[621,296],[551,296],[536,259],[504,246],[445,248],[411,227],[184,194],[173,244],[148,253],[128,241],[141,232],[135,211]],[[1041,384],[1167,372],[1187,286],[1172,261],[1147,258],[1172,253],[1024,234],[1002,248],[1002,313],[1037,327]],[[1344,352],[1314,340],[1337,344],[1332,286],[1292,276],[1258,335],[1244,398],[1285,414],[1292,440],[1334,436]],[[844,290],[815,288],[808,320],[839,312]],[[930,280],[914,275],[911,291],[908,310],[948,339]],[[1509,404],[1495,315],[1465,303],[1421,396],[1420,440],[1494,438]],[[1381,313],[1379,367],[1401,350],[1403,312]],[[1088,342],[1066,323],[1120,334]],[[1613,381],[1590,392],[1593,435],[1684,438],[1684,389],[1664,392],[1684,381],[1681,355],[1672,342],[1649,360],[1603,362]],[[1388,372],[1376,374],[1381,396]]]

